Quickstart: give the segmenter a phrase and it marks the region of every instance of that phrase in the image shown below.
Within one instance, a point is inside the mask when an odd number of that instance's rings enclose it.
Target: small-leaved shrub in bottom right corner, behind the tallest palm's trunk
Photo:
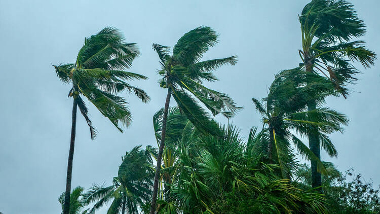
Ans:
[[[365,181],[361,174],[355,175],[353,169],[339,172],[332,163],[325,163],[329,173],[322,175],[322,185],[326,194],[328,211],[337,214],[371,214],[380,212],[379,190],[372,181]],[[300,167],[294,183],[301,189],[311,187],[311,169],[308,165]]]

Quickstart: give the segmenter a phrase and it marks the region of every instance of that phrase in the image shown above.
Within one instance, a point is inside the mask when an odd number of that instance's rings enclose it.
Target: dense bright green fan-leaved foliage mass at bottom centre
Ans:
[[[261,137],[254,131],[245,143],[236,127],[222,130],[223,138],[193,135],[178,145],[178,169],[166,196],[177,213],[292,213],[306,207],[325,213],[320,194],[295,188],[273,172],[278,165],[260,161],[253,148]]]

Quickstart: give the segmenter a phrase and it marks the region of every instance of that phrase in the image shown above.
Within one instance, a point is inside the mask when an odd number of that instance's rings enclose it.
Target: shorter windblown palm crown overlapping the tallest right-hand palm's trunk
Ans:
[[[325,171],[320,159],[291,130],[301,136],[320,133],[321,146],[330,156],[336,157],[336,149],[327,134],[342,131],[340,125],[348,123],[346,115],[328,108],[306,111],[310,100],[323,104],[324,98],[331,93],[334,93],[333,86],[326,78],[294,68],[283,70],[275,76],[263,102],[252,99],[256,110],[263,116],[267,136],[263,149],[270,163],[280,165],[284,179],[290,177],[291,143],[300,155],[317,163],[320,171]]]

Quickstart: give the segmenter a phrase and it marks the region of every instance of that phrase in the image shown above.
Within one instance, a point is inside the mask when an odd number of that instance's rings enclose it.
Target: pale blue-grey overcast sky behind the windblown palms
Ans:
[[[110,184],[125,151],[157,145],[152,117],[164,105],[166,92],[157,83],[159,63],[153,43],[173,46],[200,25],[220,33],[219,44],[204,58],[238,55],[239,62],[220,68],[216,72],[220,81],[208,86],[245,107],[231,121],[246,135],[251,126],[260,125],[251,98],[264,97],[274,74],[300,62],[297,14],[308,2],[0,0],[0,211],[61,211],[57,198],[65,188],[72,100],[67,98],[70,86],[59,81],[51,64],[73,62],[85,37],[111,25],[123,31],[127,41],[136,42],[142,54],[131,71],[149,80],[134,84],[152,98],[149,104],[128,98],[134,120],[124,133],[89,104],[99,130],[95,140],[90,140],[87,124],[78,114],[72,187],[88,188],[93,183]],[[379,54],[380,2],[351,2],[367,25],[367,35],[361,39]],[[339,157],[330,159],[325,153],[322,157],[341,170],[354,167],[378,185],[380,76],[375,63],[358,76],[352,86],[356,92],[347,100],[328,98],[328,105],[347,114],[351,122],[345,134],[331,136]],[[219,116],[217,120],[226,122]]]

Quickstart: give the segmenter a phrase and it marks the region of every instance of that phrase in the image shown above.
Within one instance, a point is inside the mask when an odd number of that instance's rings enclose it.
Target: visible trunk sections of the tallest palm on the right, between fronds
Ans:
[[[313,72],[313,65],[312,61],[308,59],[308,57],[305,57],[305,66],[307,72]],[[308,111],[312,111],[317,109],[317,103],[316,100],[310,101],[308,103]],[[319,144],[319,136],[316,133],[309,133],[309,148],[310,150],[316,155],[319,159],[321,159],[321,147]],[[318,188],[319,192],[322,192],[322,177],[321,173],[317,170],[317,162],[314,160],[311,160],[312,165],[312,187],[320,187]]]

